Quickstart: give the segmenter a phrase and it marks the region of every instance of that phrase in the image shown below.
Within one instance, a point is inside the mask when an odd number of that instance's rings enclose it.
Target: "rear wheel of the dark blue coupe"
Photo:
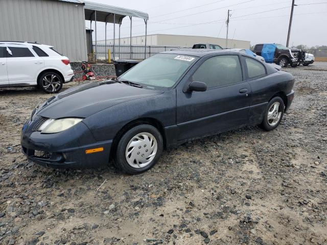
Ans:
[[[279,104],[278,104],[279,103]],[[274,107],[278,105],[278,109]],[[285,105],[281,97],[273,97],[267,105],[260,128],[271,131],[278,127],[284,116]]]

